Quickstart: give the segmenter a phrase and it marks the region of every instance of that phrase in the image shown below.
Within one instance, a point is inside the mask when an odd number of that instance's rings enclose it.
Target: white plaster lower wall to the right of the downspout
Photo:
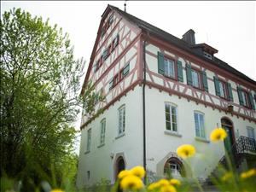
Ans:
[[[166,135],[165,102],[177,105],[177,129],[182,137]],[[166,154],[176,152],[182,144],[193,144],[197,150],[194,158],[190,159],[195,176],[206,178],[217,165],[218,160],[224,155],[224,143],[204,143],[195,140],[194,111],[205,114],[206,136],[209,141],[211,131],[221,125],[221,118],[228,117],[234,123],[234,129],[239,130],[240,136],[247,136],[246,126],[256,128],[253,122],[237,119],[235,116],[219,112],[217,109],[206,108],[204,105],[188,102],[178,96],[169,96],[166,92],[160,92],[154,88],[146,89],[146,143],[147,143],[147,167],[156,172],[156,165],[163,160]],[[153,160],[154,159],[154,160]],[[166,159],[167,160],[167,159]],[[161,176],[161,175],[159,175]]]

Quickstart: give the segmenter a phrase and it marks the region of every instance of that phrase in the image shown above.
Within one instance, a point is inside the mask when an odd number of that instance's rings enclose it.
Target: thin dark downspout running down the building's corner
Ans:
[[[146,109],[145,109],[145,86],[146,86],[146,39],[143,40],[143,167],[146,169]]]

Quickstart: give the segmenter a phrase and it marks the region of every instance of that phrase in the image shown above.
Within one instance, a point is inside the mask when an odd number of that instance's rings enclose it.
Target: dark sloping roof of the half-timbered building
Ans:
[[[125,19],[131,21],[131,23],[134,23],[136,26],[138,26],[139,28],[141,28],[143,31],[145,32],[149,32],[149,34],[152,34],[158,38],[161,38],[171,44],[176,45],[178,48],[183,49],[188,51],[189,53],[196,55],[198,57],[200,57],[202,60],[208,61],[210,62],[212,65],[215,65],[219,68],[222,68],[230,73],[235,74],[236,76],[240,77],[241,79],[245,79],[248,82],[252,83],[252,84],[256,84],[256,81],[254,81],[253,79],[248,78],[245,74],[239,72],[238,70],[236,70],[236,68],[231,67],[229,64],[227,64],[226,62],[218,59],[217,57],[214,56],[214,60],[210,60],[207,57],[199,54],[198,52],[196,52],[195,49],[193,49],[193,46],[191,46],[190,44],[188,44],[187,42],[183,41],[180,38],[177,38],[175,36],[173,36],[172,34],[165,32],[163,30],[161,30],[160,28],[153,26],[151,24],[149,24],[148,22],[141,20],[133,15],[130,15],[122,10],[120,10],[117,7],[114,7],[112,5],[108,5],[111,9],[116,10],[120,15],[124,16]]]

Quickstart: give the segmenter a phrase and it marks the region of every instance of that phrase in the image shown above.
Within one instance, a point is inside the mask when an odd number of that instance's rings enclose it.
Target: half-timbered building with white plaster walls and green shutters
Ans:
[[[190,163],[201,180],[224,162],[224,148],[247,154],[236,155],[238,169],[256,166],[256,82],[217,52],[195,44],[191,29],[176,38],[108,5],[84,80],[105,100],[96,103],[102,113],[82,117],[77,185],[114,183],[120,170],[137,165],[152,180],[168,167],[189,178],[176,154],[184,143],[196,147]],[[218,126],[229,133],[224,143],[209,141]]]

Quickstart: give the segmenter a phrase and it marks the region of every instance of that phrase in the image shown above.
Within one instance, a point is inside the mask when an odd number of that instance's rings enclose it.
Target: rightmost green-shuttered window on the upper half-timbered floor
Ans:
[[[252,108],[255,110],[255,105],[253,102],[253,94],[247,92],[246,90],[241,89],[241,87],[237,87],[238,99],[242,106],[246,108]]]

